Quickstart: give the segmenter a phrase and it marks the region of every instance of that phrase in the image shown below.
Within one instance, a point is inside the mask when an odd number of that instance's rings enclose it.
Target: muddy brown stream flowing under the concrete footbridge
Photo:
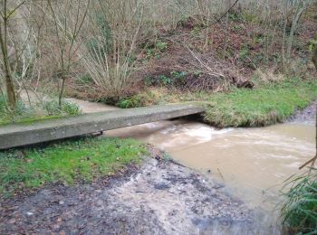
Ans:
[[[113,109],[72,99],[83,112]],[[283,182],[315,154],[313,117],[271,127],[216,129],[187,119],[159,121],[105,132],[133,137],[164,150],[179,164],[210,175],[275,226]]]

